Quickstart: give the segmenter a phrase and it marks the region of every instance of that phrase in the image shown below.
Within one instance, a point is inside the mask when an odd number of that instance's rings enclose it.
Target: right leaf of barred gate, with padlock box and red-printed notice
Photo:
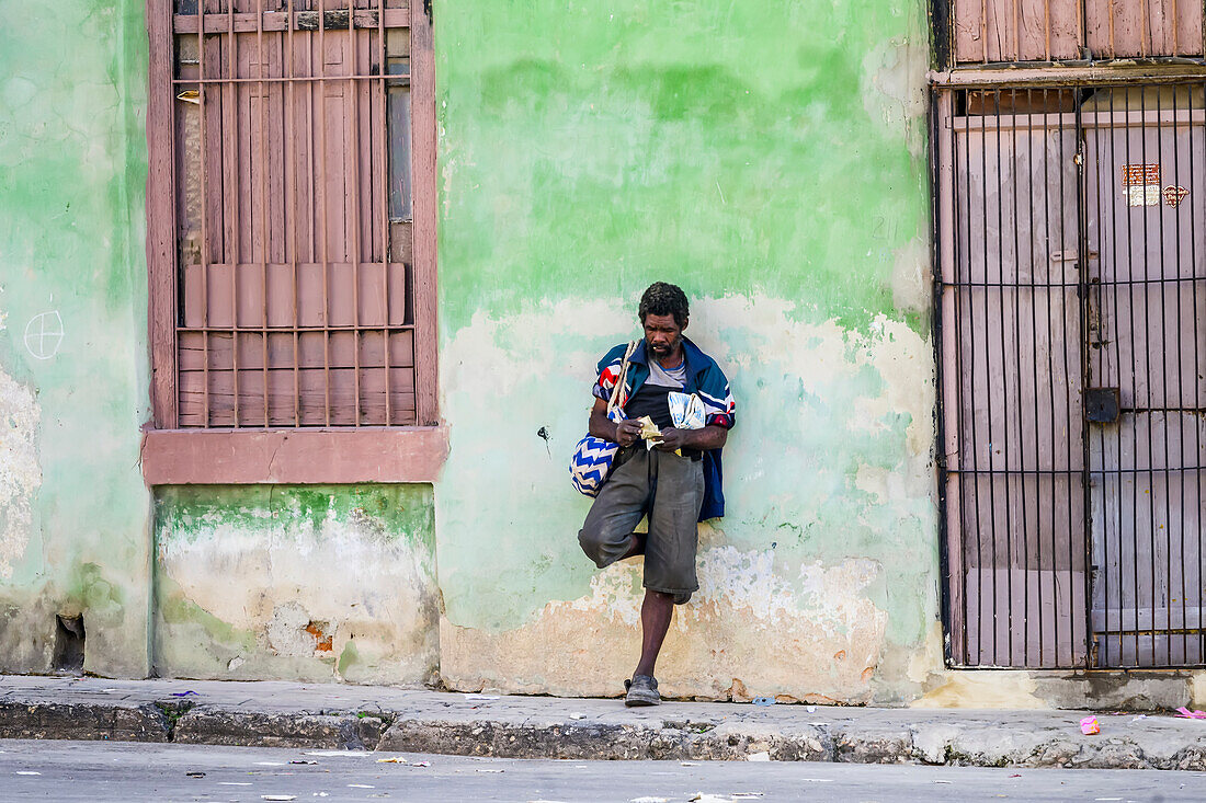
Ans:
[[[1096,660],[1206,662],[1206,154],[1202,89],[1102,88],[1082,105]]]

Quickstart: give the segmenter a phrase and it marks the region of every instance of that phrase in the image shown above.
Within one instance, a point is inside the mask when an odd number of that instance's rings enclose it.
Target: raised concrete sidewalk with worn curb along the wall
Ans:
[[[490,697],[387,686],[0,678],[0,738],[669,758],[1206,769],[1206,720]]]

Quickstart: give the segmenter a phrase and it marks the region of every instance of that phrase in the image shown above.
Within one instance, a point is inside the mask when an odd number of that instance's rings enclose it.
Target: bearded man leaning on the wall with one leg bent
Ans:
[[[578,540],[601,569],[644,556],[640,660],[625,680],[625,704],[656,705],[654,667],[674,605],[699,587],[696,523],[724,515],[720,452],[734,404],[724,371],[683,334],[690,310],[679,287],[650,285],[637,315],[644,338],[632,347],[615,346],[598,363],[590,434],[617,444],[619,451]],[[684,397],[698,414],[698,428],[675,426]],[[608,416],[609,402],[619,415]],[[645,516],[649,532],[634,532]]]

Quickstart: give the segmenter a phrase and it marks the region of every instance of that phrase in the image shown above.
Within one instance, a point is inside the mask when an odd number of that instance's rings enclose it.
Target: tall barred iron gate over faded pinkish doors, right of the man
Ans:
[[[952,664],[1206,663],[1204,89],[935,92]]]

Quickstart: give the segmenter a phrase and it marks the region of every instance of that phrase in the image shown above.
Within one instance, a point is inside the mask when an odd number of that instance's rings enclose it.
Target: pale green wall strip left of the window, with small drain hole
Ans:
[[[140,0],[0,0],[0,672],[145,674]]]

